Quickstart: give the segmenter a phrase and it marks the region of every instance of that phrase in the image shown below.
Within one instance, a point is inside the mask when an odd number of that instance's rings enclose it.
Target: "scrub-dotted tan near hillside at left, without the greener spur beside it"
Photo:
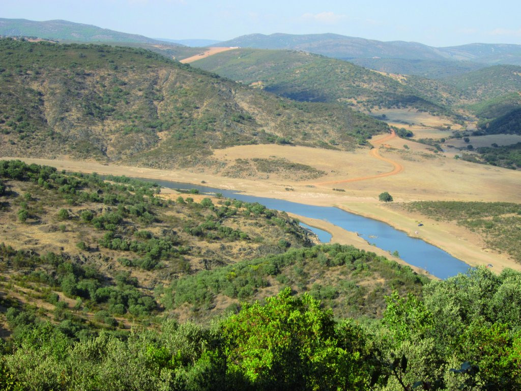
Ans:
[[[76,302],[80,328],[116,326],[114,316],[125,324],[160,312],[153,289],[174,278],[312,244],[293,219],[259,204],[107,179],[0,161],[3,305],[56,304],[63,320]],[[98,311],[106,315],[92,319]]]

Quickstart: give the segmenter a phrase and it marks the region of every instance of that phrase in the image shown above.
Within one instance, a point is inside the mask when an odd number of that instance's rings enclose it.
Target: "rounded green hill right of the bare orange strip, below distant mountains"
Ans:
[[[192,65],[245,84],[260,85],[266,91],[298,101],[448,111],[441,94],[431,89],[429,96],[408,85],[405,77],[393,78],[305,52],[236,49],[197,60]]]

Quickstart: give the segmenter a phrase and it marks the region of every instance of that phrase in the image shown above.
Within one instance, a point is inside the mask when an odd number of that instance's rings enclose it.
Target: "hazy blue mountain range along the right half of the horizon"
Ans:
[[[473,43],[433,47],[418,42],[382,42],[339,34],[250,34],[221,46],[259,49],[289,49],[340,59],[400,58],[406,60],[466,60],[485,64],[521,65],[521,45]]]

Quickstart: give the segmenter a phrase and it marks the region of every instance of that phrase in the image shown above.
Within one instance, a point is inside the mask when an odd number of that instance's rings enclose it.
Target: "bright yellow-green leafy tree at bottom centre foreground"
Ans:
[[[367,389],[357,333],[337,331],[331,310],[307,294],[286,288],[264,306],[244,304],[222,336],[230,377],[254,389]]]

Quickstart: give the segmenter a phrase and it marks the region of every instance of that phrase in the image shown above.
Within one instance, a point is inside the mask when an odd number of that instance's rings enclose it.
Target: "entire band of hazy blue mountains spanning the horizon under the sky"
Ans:
[[[183,51],[184,46],[240,46],[262,49],[299,50],[327,57],[349,59],[360,63],[370,59],[370,67],[384,70],[413,69],[421,74],[418,60],[472,62],[483,65],[511,64],[521,65],[521,45],[472,43],[461,46],[433,47],[418,42],[390,41],[382,42],[364,38],[356,38],[340,34],[250,34],[239,36],[229,41],[216,40],[173,40],[153,39],[143,35],[128,34],[119,31],[102,29],[97,26],[84,25],[66,20],[32,21],[27,19],[0,18],[0,35],[32,36],[43,39],[68,42],[104,42],[141,45],[151,50],[160,51],[153,45],[163,46],[163,54],[184,58],[193,53]],[[164,46],[168,47],[165,48]],[[177,47],[177,50],[176,50]],[[190,49],[190,48],[187,48]],[[178,50],[181,50],[179,52]],[[392,59],[392,61],[390,61]],[[398,63],[396,61],[400,60]],[[396,65],[398,64],[398,65]],[[475,66],[465,66],[468,70]],[[457,72],[456,72],[457,73]]]

